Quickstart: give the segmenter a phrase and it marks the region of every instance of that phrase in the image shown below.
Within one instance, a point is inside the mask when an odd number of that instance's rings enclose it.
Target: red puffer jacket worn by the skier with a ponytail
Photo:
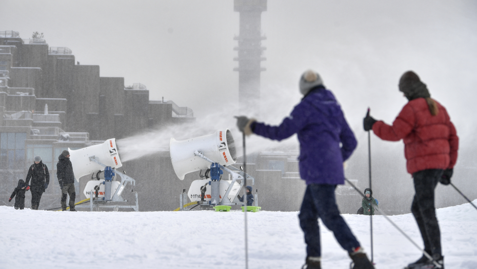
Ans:
[[[425,98],[416,98],[387,125],[377,121],[373,132],[383,140],[404,139],[407,172],[453,168],[457,161],[459,137],[446,109],[436,102],[439,113],[432,116]]]

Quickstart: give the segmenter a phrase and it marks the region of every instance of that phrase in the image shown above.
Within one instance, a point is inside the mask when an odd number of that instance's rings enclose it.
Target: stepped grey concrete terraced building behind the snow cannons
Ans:
[[[55,168],[63,150],[193,121],[190,108],[149,100],[146,86],[125,87],[123,77],[101,77],[100,66],[79,65],[66,47],[0,32],[0,205],[35,155],[50,170],[52,190],[39,207],[45,209],[59,203]]]

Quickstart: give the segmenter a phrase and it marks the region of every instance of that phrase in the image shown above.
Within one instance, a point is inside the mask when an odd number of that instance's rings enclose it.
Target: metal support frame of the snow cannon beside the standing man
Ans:
[[[90,161],[94,161],[97,164],[100,164],[102,167],[106,167],[105,164],[101,163],[99,159],[95,156],[90,156],[89,157]],[[127,202],[128,200],[124,200],[123,197],[121,197],[121,193],[124,190],[124,187],[126,187],[126,184],[128,182],[131,182],[131,185],[134,186],[136,185],[136,180],[133,178],[127,176],[126,174],[123,174],[121,172],[118,172],[115,169],[112,169],[113,172],[116,175],[121,176],[121,184],[117,187],[116,192],[114,195],[111,197],[111,200],[100,200],[96,197],[93,197],[94,190],[91,190],[90,192],[90,203],[88,205],[76,205],[76,208],[90,208],[90,211],[93,211],[93,208],[96,207],[96,211],[99,208],[113,208],[114,211],[118,211],[120,208],[131,208],[134,211],[139,211],[139,204],[138,204],[138,198],[137,198],[137,192],[134,192],[134,197],[135,197],[135,205],[107,205],[107,203],[110,202]],[[114,176],[115,177],[115,176]],[[97,200],[96,200],[97,199]]]

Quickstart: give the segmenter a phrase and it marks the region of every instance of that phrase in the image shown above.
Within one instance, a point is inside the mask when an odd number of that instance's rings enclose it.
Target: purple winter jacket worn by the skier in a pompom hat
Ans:
[[[279,141],[297,133],[302,179],[307,184],[344,184],[343,161],[357,142],[340,105],[323,86],[312,89],[280,126],[254,122],[251,128],[257,135]]]

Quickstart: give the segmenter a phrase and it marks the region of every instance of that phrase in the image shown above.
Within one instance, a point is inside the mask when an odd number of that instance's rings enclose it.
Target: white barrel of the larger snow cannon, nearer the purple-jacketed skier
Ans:
[[[181,180],[184,180],[184,176],[188,173],[207,169],[210,166],[210,162],[195,156],[195,151],[203,152],[204,156],[224,166],[237,161],[235,142],[228,129],[181,141],[171,138],[169,151],[172,167]]]

